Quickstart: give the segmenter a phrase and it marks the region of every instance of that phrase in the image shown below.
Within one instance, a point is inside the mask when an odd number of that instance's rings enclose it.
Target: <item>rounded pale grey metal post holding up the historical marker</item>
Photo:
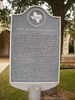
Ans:
[[[40,100],[41,99],[41,89],[38,86],[33,86],[29,88],[29,100]]]

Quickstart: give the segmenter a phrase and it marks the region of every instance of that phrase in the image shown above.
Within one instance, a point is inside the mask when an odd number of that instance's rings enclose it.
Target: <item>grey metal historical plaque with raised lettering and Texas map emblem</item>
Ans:
[[[12,16],[11,82],[58,82],[60,18],[41,7]]]

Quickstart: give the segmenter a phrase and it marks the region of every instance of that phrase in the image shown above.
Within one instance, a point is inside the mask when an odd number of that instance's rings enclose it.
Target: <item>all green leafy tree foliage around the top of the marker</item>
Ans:
[[[14,10],[16,14],[24,12],[29,6],[32,6],[32,5],[42,5],[42,4],[45,3],[42,0],[7,0],[7,1],[9,2],[9,4],[11,4],[11,10]],[[45,0],[45,1],[49,2],[48,0]],[[64,2],[65,1],[66,0],[64,0]],[[69,3],[74,3],[74,1],[75,0],[67,0],[67,2],[69,2]],[[53,0],[53,5],[52,6],[56,6],[56,7],[59,8],[59,5],[60,5],[60,7],[62,7],[61,5],[64,2],[62,0]],[[48,9],[47,9],[48,12],[52,14],[54,11],[52,11],[50,5],[47,5],[47,6],[48,6]],[[74,9],[74,7],[72,7],[72,10],[73,9]],[[7,9],[7,7],[4,8],[3,10],[0,10],[0,21],[3,24],[2,27],[9,28],[11,10]],[[67,24],[68,24],[67,19],[69,18],[69,16],[70,16],[70,14],[67,14],[65,16],[66,17],[65,22]],[[66,26],[66,24],[64,26]],[[70,33],[74,34],[73,30],[71,30]]]

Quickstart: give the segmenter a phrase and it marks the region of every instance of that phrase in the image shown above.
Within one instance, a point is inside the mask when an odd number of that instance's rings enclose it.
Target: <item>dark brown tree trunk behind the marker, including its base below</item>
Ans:
[[[64,1],[63,1],[64,2]],[[57,6],[54,6],[52,5],[52,10],[53,10],[53,15],[54,16],[61,16],[61,54],[62,55],[62,49],[63,49],[63,34],[64,34],[64,17],[65,17],[65,14],[64,14],[64,3],[62,3],[62,5],[57,5]],[[60,57],[61,58],[61,57]],[[61,59],[60,59],[61,60]],[[49,89],[49,90],[46,90],[46,91],[42,91],[42,96],[44,95],[52,95],[52,94],[57,94],[57,86],[52,88],[52,89]]]

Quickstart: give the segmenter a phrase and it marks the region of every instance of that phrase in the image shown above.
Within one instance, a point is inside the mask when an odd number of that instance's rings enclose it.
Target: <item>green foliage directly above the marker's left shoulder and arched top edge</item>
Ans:
[[[37,0],[8,0],[8,2],[11,4],[11,7],[15,10],[16,14],[24,12],[29,6],[44,4],[44,1]]]

